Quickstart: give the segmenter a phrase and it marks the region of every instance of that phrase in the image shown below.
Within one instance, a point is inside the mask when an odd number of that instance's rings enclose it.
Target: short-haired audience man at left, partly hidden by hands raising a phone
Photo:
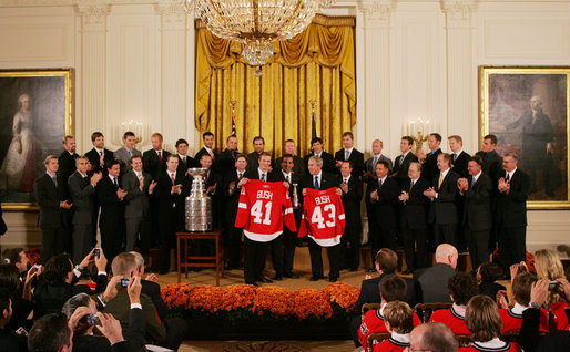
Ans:
[[[136,275],[136,261],[132,253],[123,252],[113,259],[111,265],[113,276],[130,279]],[[182,338],[186,332],[186,325],[180,320],[162,320],[156,311],[151,298],[141,294],[141,306],[146,322],[146,340],[154,344],[176,351],[182,343]],[[105,303],[105,313],[113,314],[121,322],[123,333],[128,331],[130,309],[129,294],[124,288],[119,288],[119,293]]]

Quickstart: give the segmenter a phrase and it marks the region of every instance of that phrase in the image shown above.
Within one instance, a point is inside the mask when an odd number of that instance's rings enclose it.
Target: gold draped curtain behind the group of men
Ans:
[[[196,22],[195,123],[215,135],[217,148],[225,147],[232,132],[230,101],[237,102],[235,125],[240,151],[253,151],[261,135],[265,149],[275,156],[286,139],[297,153],[311,147],[311,101],[315,100],[317,136],[325,151],[342,146],[342,134],[356,123],[355,45],[352,17],[318,14],[297,37],[275,42],[275,54],[255,77],[257,68],[245,63],[242,45],[220,39]]]

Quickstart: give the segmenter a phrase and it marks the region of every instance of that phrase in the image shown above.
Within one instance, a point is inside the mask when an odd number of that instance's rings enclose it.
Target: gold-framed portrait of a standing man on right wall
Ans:
[[[570,66],[480,66],[480,138],[515,153],[531,179],[529,209],[568,209]]]

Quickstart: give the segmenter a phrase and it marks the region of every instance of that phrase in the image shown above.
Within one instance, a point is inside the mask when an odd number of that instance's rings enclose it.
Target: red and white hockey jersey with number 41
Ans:
[[[251,240],[268,242],[283,232],[283,222],[297,230],[288,189],[282,182],[250,179],[240,194],[235,227]]]

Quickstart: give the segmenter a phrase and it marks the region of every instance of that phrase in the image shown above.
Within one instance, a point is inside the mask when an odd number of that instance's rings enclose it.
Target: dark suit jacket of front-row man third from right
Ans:
[[[431,209],[429,211],[429,221],[438,225],[457,224],[459,216],[457,214],[457,175],[452,169],[449,169],[446,177],[441,182],[441,187],[438,186],[439,174],[431,179],[431,186],[437,191],[437,198],[431,201]]]

